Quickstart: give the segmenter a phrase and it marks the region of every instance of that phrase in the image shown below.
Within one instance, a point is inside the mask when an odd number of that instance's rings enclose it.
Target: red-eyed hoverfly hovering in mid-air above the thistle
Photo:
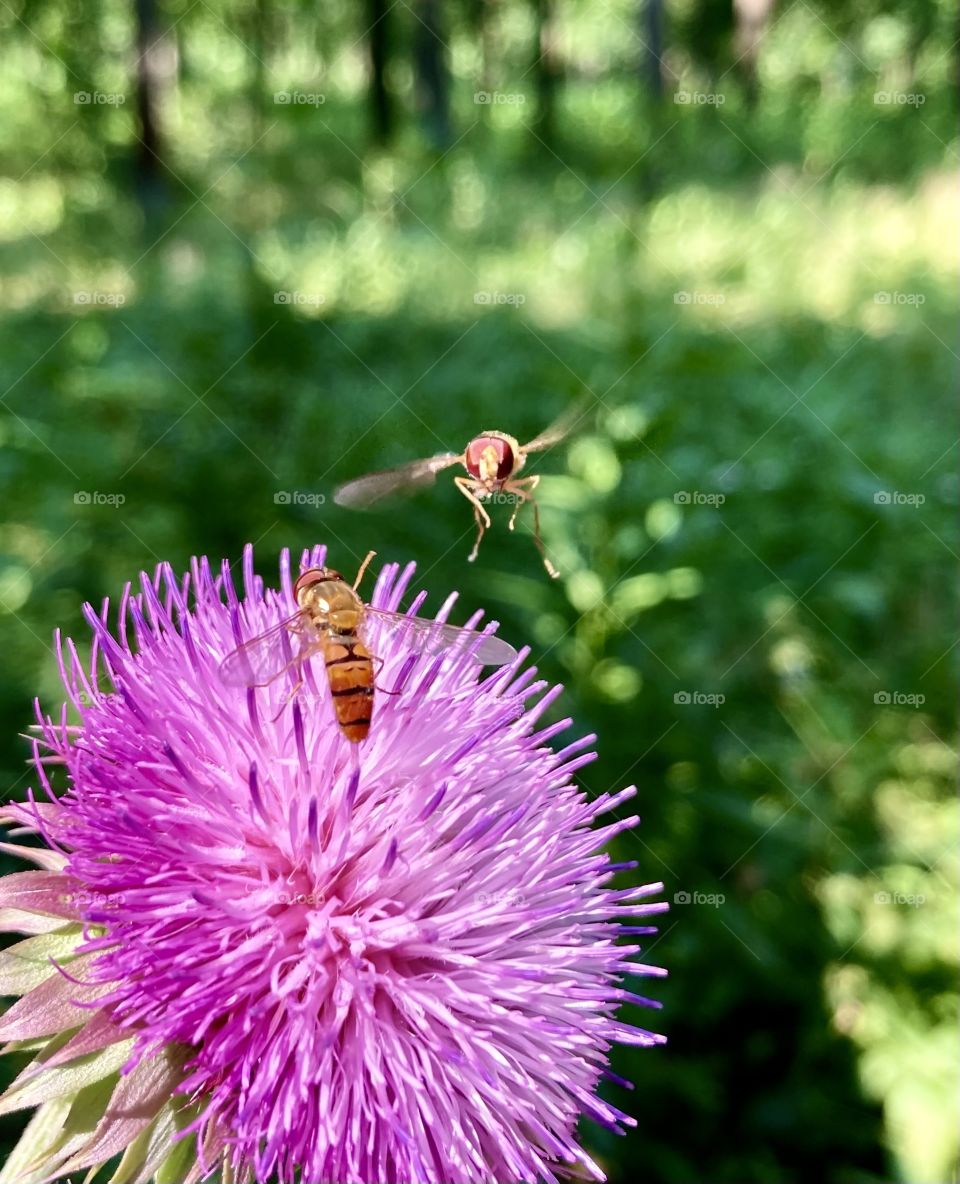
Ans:
[[[451,465],[462,464],[469,476],[455,477],[453,484],[473,507],[473,520],[477,523],[477,539],[468,559],[472,562],[477,558],[483,534],[490,526],[490,515],[483,504],[484,501],[497,494],[507,494],[515,498],[508,528],[514,529],[520,507],[524,502],[529,502],[534,510],[536,549],[540,552],[547,574],[552,579],[556,579],[560,573],[547,556],[543,541],[540,538],[540,507],[534,497],[540,477],[518,478],[517,474],[523,468],[529,452],[543,452],[559,444],[584,416],[582,404],[575,404],[553,426],[541,432],[529,444],[521,444],[507,432],[481,432],[479,436],[475,436],[470,440],[463,452],[442,452],[439,456],[401,464],[397,469],[385,469],[382,472],[371,472],[365,477],[348,481],[334,491],[334,501],[337,506],[357,508],[372,506],[391,494],[408,493],[425,485],[432,485],[438,472],[443,472]]]

